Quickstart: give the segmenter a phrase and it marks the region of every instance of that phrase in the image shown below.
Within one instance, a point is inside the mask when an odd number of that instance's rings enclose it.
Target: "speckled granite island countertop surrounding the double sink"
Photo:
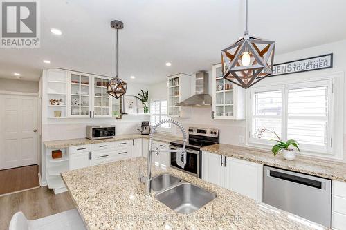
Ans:
[[[217,193],[204,207],[184,215],[172,211],[152,196],[144,195],[138,169],[147,160],[138,157],[62,173],[71,197],[88,229],[325,229],[285,211],[192,175],[166,172]],[[163,173],[154,169],[153,175]]]

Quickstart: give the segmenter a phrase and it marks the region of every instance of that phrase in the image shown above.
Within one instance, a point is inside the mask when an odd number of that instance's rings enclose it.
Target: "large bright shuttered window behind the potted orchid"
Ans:
[[[295,139],[302,153],[333,155],[333,79],[252,88],[248,105],[248,144]]]

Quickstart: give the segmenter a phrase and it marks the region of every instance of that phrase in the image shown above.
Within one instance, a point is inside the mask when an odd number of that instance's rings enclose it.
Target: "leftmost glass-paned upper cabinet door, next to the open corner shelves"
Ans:
[[[90,117],[92,78],[83,73],[69,73],[69,117]]]

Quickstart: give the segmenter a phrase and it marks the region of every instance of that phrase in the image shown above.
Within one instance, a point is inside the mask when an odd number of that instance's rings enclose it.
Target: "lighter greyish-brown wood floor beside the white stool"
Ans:
[[[69,193],[54,195],[47,186],[0,197],[0,230],[8,229],[12,215],[22,211],[28,220],[74,209]]]

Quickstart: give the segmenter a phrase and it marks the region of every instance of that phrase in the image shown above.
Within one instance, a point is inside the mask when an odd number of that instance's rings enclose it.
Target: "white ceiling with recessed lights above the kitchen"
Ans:
[[[244,0],[49,0],[41,2],[41,48],[0,49],[0,77],[38,80],[42,68],[114,74],[118,19],[120,77],[154,83],[208,70],[244,32]],[[251,35],[276,41],[276,54],[346,38],[346,1],[249,0]],[[62,30],[52,35],[51,28]],[[51,60],[43,64],[42,60]],[[165,66],[165,62],[172,66]],[[136,79],[129,79],[130,75]]]

